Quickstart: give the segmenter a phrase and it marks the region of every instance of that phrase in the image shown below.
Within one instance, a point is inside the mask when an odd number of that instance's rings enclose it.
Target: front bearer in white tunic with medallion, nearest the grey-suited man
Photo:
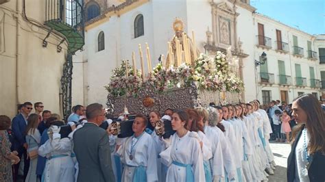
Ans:
[[[134,135],[127,138],[117,151],[125,165],[122,181],[158,181],[155,142],[145,132],[147,122],[143,114],[137,114],[132,125]]]

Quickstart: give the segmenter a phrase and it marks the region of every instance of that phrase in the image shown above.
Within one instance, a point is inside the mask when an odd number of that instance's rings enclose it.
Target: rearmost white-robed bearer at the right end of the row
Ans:
[[[271,146],[269,146],[269,138],[270,134],[273,133],[272,127],[271,127],[271,122],[269,121],[269,116],[267,116],[267,112],[265,112],[264,109],[260,108],[260,103],[258,100],[255,100],[256,105],[258,107],[257,112],[261,114],[263,118],[263,133],[264,133],[264,138],[265,138],[265,151],[267,155],[267,160],[269,161],[270,167],[272,170],[275,170],[276,168],[276,163],[274,162],[274,155],[271,150]]]

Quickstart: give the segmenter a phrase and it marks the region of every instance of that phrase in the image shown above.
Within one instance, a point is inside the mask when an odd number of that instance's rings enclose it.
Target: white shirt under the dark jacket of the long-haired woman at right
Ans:
[[[304,138],[306,139],[306,142],[304,142]],[[309,132],[304,129],[302,131],[302,134],[298,140],[297,146],[296,146],[296,178],[295,182],[299,181],[309,181],[308,177],[308,169],[307,164],[308,161],[306,159],[306,145],[309,143]]]

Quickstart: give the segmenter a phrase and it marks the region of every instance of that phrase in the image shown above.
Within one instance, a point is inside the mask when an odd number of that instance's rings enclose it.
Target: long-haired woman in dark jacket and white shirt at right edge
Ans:
[[[298,126],[293,131],[287,180],[325,181],[325,116],[313,94],[298,96],[292,104]]]

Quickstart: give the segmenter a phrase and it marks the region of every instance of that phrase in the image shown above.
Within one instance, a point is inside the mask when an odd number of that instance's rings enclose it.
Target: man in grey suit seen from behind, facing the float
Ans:
[[[73,134],[73,151],[79,163],[77,182],[113,182],[115,177],[110,160],[108,133],[98,127],[105,120],[103,105],[88,105],[86,117],[88,122]]]

